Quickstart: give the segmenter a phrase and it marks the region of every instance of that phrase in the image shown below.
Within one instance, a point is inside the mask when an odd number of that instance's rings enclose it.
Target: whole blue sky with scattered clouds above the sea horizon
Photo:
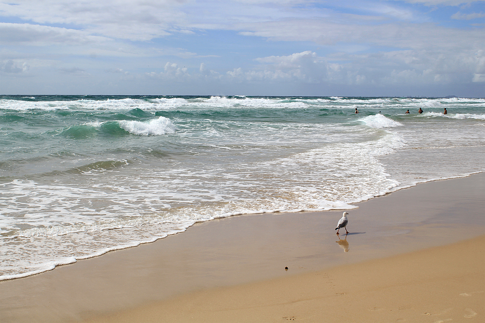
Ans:
[[[0,94],[485,97],[485,0],[7,0]]]

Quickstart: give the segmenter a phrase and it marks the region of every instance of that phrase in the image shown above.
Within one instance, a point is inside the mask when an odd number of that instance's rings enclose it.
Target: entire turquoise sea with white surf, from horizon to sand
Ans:
[[[1,280],[484,171],[485,99],[3,95],[0,136]]]

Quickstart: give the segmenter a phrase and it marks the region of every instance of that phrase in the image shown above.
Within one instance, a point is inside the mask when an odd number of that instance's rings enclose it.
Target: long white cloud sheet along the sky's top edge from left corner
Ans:
[[[314,1],[220,1],[206,0],[12,0],[3,4],[2,15],[19,17],[38,25],[64,24],[91,35],[131,41],[150,41],[170,34],[190,34],[203,30],[251,31],[254,23],[325,19],[342,23],[369,17],[341,13]],[[324,3],[324,2],[323,2]],[[412,19],[416,13],[407,8],[381,2],[347,2],[342,6],[360,7],[372,19],[382,15]],[[295,20],[296,19],[296,20]],[[296,26],[293,26],[296,27]]]

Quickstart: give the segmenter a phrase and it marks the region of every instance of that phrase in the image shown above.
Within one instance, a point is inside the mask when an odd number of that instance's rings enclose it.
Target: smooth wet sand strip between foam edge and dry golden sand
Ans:
[[[1,281],[0,319],[79,322],[191,292],[450,245],[484,233],[484,178],[478,173],[426,182],[356,203],[358,208],[349,212],[351,233],[338,244],[333,229],[342,211],[240,215],[197,223],[184,234],[151,244]]]

